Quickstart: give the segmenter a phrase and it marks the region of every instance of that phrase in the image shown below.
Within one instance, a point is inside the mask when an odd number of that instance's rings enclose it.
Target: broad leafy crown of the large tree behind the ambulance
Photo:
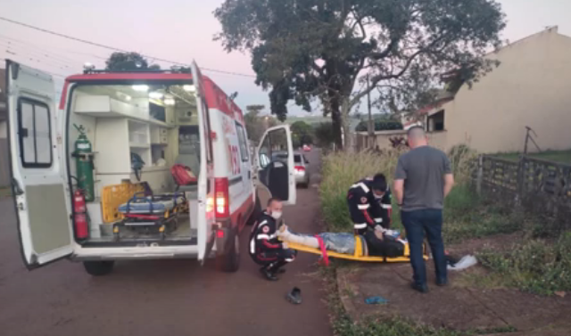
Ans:
[[[492,70],[484,56],[505,27],[495,0],[225,0],[214,15],[215,39],[252,53],[272,113],[285,119],[290,100],[310,111],[319,99],[339,145],[349,112],[371,90],[454,69],[471,82]]]

